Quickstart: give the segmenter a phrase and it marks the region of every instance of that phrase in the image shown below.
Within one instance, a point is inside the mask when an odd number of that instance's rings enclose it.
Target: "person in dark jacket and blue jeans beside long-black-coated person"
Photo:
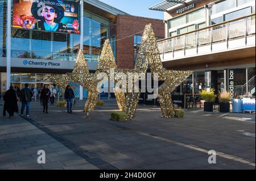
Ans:
[[[25,84],[24,89],[20,90],[20,101],[22,102],[22,108],[20,111],[20,115],[23,116],[23,112],[26,106],[26,115],[30,116],[30,102],[32,99],[32,91],[28,89],[28,83]]]

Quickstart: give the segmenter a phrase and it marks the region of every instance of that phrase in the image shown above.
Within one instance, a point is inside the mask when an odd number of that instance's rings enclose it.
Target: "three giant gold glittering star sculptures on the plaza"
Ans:
[[[144,29],[141,47],[133,70],[117,69],[110,41],[106,40],[96,73],[89,73],[83,52],[80,50],[73,72],[68,74],[68,78],[65,79],[72,79],[73,82],[79,83],[88,90],[88,99],[85,103],[84,111],[89,113],[93,112],[94,107],[97,104],[97,84],[101,81],[97,79],[98,73],[106,73],[109,79],[112,79],[113,76],[115,77],[118,73],[123,73],[128,78],[129,73],[146,74],[148,66],[153,74],[158,74],[159,81],[164,81],[163,85],[158,88],[158,100],[163,117],[175,117],[171,92],[174,91],[176,87],[192,73],[192,71],[164,70],[151,24],[147,24]],[[114,74],[110,73],[110,69],[114,70]],[[57,79],[57,81],[64,82],[60,79]],[[117,79],[114,79],[114,83],[117,83],[117,81]],[[128,81],[131,81],[130,83],[133,83],[133,86],[135,85],[134,79]],[[128,81],[126,79],[127,84],[129,83]],[[114,92],[118,108],[126,113],[126,120],[133,120],[137,110],[141,90],[139,90],[139,92],[129,92],[126,89],[126,92],[123,92],[117,91],[117,88],[118,87],[115,87]]]

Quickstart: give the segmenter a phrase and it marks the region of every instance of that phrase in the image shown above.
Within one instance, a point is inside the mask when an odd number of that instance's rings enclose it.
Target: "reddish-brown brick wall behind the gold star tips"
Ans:
[[[142,35],[146,24],[151,23],[155,36],[164,37],[163,20],[142,18],[137,16],[119,15],[115,20],[116,59],[119,69],[134,68],[134,40],[133,34]],[[139,33],[138,33],[139,32]],[[113,33],[111,33],[113,35]],[[130,37],[127,37],[130,36]],[[126,38],[124,38],[126,37]],[[122,39],[124,38],[124,39]],[[121,39],[121,40],[119,40]]]

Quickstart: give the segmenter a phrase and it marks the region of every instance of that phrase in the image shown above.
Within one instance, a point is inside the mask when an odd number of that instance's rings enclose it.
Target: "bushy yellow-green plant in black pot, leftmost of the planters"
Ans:
[[[204,89],[200,95],[202,99],[205,100],[204,111],[213,112],[213,102],[217,97],[217,95],[214,94],[214,89],[210,89],[210,91]]]

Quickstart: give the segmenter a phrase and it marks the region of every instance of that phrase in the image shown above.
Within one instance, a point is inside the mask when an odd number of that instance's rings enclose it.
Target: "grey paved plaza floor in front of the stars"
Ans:
[[[255,114],[185,110],[181,119],[139,106],[134,121],[109,120],[115,100],[89,118],[77,101],[72,114],[31,103],[30,117],[2,117],[0,169],[255,169]],[[19,105],[20,109],[20,105]],[[46,151],[39,164],[38,150]],[[209,150],[217,153],[209,164]]]

